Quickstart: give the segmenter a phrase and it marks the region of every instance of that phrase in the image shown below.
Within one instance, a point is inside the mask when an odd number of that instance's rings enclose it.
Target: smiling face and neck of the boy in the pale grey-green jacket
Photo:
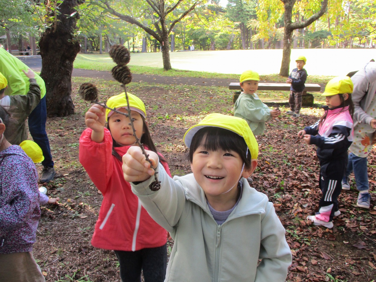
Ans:
[[[242,171],[242,168],[243,161],[240,155],[232,150],[208,151],[203,146],[199,146],[193,153],[191,169],[194,178],[212,206],[216,202],[226,204],[237,201],[238,180],[248,171],[246,168]],[[223,211],[232,208],[232,206],[227,208],[226,205],[223,207]],[[220,210],[218,206],[213,206],[213,208]]]

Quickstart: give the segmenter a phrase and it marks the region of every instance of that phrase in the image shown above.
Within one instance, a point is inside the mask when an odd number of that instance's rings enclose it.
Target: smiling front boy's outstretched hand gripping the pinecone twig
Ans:
[[[149,150],[145,150],[149,154],[153,167],[158,166],[158,155]],[[139,182],[149,179],[154,175],[155,171],[151,168],[150,162],[146,161],[145,155],[138,146],[132,146],[123,156],[123,174],[124,179],[128,182]]]

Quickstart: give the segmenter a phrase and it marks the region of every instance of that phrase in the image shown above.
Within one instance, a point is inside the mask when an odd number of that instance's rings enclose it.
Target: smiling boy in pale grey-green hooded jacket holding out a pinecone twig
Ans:
[[[123,156],[133,193],[174,239],[165,281],[285,281],[292,260],[285,229],[273,203],[243,178],[258,155],[246,121],[210,114],[188,129],[184,143],[193,174],[174,179],[147,152],[161,181],[156,192],[141,150]]]

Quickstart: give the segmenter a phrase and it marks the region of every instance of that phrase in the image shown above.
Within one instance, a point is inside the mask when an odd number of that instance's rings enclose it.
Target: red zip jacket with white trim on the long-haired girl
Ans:
[[[132,193],[129,182],[124,180],[122,162],[112,155],[109,130],[105,128],[102,143],[91,140],[91,131],[85,129],[80,137],[80,162],[103,194],[91,244],[101,249],[122,251],[163,246],[167,242],[167,231],[150,217]],[[129,147],[116,147],[115,150],[123,156]],[[162,165],[171,176],[167,163]]]

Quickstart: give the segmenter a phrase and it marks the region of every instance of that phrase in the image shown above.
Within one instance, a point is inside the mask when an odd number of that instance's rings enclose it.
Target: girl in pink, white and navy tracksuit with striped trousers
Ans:
[[[300,130],[298,137],[307,144],[317,146],[320,160],[319,187],[323,196],[316,215],[308,216],[315,225],[333,227],[333,217],[338,211],[337,197],[341,193],[341,180],[347,167],[347,149],[353,140],[351,100],[353,83],[348,76],[329,80],[322,96],[326,96],[325,113],[317,123]]]

